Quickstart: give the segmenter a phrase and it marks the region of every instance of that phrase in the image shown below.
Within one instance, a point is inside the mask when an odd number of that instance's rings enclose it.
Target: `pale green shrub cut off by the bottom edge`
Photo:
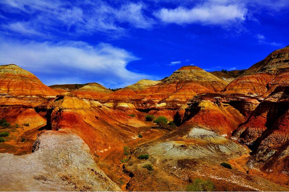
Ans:
[[[215,185],[210,180],[197,178],[187,185],[187,191],[215,191]]]

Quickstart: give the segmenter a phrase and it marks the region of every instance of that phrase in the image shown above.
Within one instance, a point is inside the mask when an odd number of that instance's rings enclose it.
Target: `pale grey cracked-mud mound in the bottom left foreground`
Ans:
[[[0,191],[121,191],[77,135],[46,131],[33,153],[0,153]]]

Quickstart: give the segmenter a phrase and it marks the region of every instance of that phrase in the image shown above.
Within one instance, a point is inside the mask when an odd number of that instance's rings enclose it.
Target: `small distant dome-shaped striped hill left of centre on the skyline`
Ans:
[[[112,93],[111,90],[98,83],[87,83],[83,87],[70,92],[79,96],[80,98],[87,99],[103,99],[105,96]]]

